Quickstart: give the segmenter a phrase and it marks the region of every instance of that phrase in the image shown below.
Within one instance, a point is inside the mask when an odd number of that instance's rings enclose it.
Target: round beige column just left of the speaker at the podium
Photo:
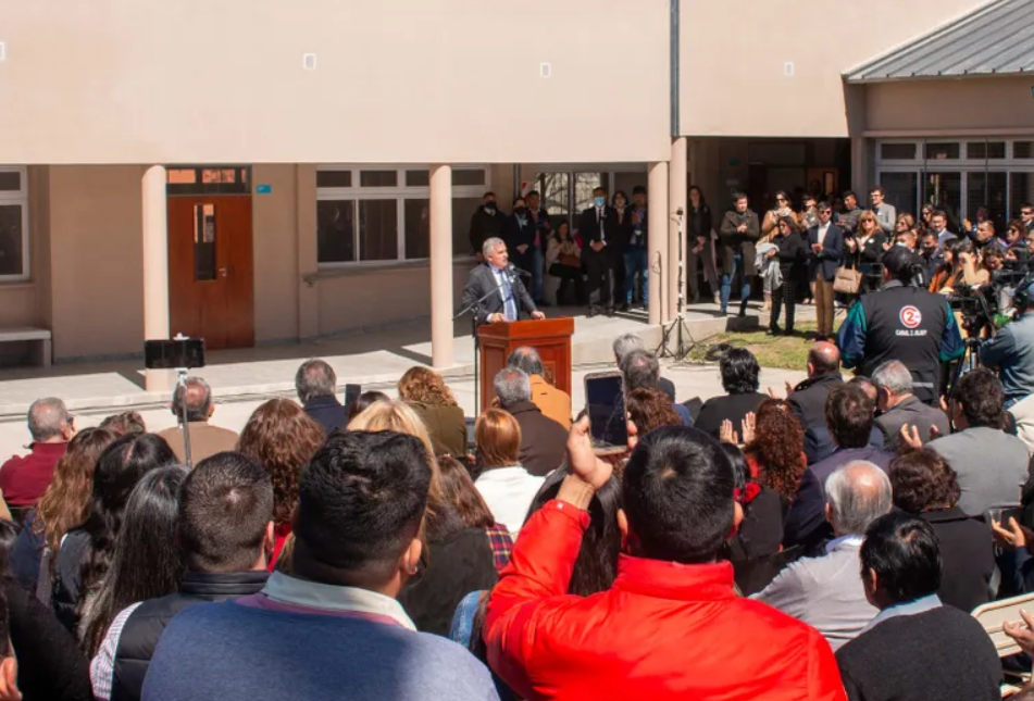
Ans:
[[[431,166],[431,364],[451,367],[452,166]]]

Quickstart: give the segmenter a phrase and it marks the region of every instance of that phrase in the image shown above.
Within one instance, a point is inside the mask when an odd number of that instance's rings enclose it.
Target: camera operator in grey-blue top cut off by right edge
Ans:
[[[1006,409],[1034,395],[1034,278],[1020,285],[1012,298],[1016,321],[980,347],[980,361],[1001,378]]]

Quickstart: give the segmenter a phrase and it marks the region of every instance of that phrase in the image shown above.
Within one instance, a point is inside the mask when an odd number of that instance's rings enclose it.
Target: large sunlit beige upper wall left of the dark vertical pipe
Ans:
[[[668,158],[668,2],[9,0],[2,35],[0,163]]]

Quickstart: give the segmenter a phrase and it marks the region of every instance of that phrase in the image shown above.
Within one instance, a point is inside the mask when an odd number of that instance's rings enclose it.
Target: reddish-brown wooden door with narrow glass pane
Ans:
[[[170,197],[170,330],[208,350],[254,345],[250,195]]]

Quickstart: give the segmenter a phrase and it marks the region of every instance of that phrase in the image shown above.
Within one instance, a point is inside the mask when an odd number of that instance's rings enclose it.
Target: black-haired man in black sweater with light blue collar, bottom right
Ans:
[[[942,605],[937,537],[926,522],[892,512],[861,548],[865,596],[880,609],[836,661],[852,701],[1001,698],[1001,662],[983,626]]]

